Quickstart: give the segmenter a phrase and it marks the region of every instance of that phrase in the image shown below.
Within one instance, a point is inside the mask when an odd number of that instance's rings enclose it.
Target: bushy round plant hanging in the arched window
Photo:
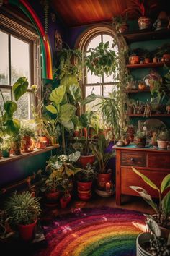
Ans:
[[[97,76],[106,74],[109,76],[117,68],[117,53],[114,50],[114,46],[109,49],[109,41],[106,43],[101,42],[97,48],[90,48],[87,51],[84,61],[91,74]]]

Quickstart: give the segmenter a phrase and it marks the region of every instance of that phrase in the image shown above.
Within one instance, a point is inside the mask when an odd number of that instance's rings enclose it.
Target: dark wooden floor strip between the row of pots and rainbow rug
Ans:
[[[44,217],[52,217],[57,216],[58,214],[65,214],[71,212],[71,210],[75,208],[93,208],[93,207],[112,207],[112,208],[122,208],[128,210],[137,210],[141,213],[153,214],[153,210],[151,207],[141,198],[141,197],[128,197],[122,196],[122,205],[117,206],[115,202],[115,196],[112,197],[99,197],[98,195],[94,195],[89,201],[82,200],[72,200],[67,208],[61,209],[58,205],[55,208],[51,208],[49,211],[48,208],[48,216],[46,215],[46,211],[44,211]],[[43,217],[42,217],[43,218]]]

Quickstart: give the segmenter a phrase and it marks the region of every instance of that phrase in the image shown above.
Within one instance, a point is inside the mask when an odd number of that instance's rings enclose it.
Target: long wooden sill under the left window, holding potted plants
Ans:
[[[22,153],[21,155],[11,155],[9,156],[9,158],[1,158],[0,159],[0,165],[4,164],[4,163],[9,163],[9,162],[14,162],[23,158],[29,158],[30,156],[33,155],[40,155],[41,153],[45,153],[48,152],[50,150],[53,150],[55,148],[59,148],[59,144],[58,145],[54,145],[54,146],[50,146],[44,149],[35,149],[32,152],[28,152],[28,153]]]

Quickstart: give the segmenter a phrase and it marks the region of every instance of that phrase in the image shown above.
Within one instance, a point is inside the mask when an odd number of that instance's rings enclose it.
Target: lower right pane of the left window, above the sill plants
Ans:
[[[17,101],[17,111],[14,116],[17,119],[31,119],[31,103],[32,103],[32,93],[25,93]]]

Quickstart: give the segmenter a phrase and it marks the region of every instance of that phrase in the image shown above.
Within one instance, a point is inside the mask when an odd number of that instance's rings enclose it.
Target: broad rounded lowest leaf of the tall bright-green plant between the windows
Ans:
[[[70,121],[73,118],[73,116],[75,115],[75,113],[76,113],[75,106],[73,106],[69,103],[62,105],[61,109],[60,109],[61,122]]]

